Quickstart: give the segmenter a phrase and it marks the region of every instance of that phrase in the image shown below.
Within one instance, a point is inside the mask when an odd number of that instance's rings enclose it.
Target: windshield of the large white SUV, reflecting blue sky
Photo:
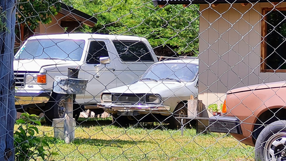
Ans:
[[[84,40],[72,39],[28,40],[14,58],[80,60],[84,43]]]

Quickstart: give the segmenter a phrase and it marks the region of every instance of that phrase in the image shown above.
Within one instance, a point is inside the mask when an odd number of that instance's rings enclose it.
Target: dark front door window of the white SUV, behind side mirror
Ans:
[[[108,56],[108,52],[103,41],[92,41],[89,45],[89,53],[86,58],[87,64],[99,64],[99,58]]]

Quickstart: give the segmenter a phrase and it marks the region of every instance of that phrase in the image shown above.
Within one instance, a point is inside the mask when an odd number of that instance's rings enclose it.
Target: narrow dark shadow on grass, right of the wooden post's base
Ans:
[[[145,143],[146,141],[132,141],[132,140],[104,140],[104,139],[75,139],[73,140],[73,144],[76,146],[82,145],[82,144],[88,144],[92,146],[98,146],[98,147],[123,147],[125,144],[134,145],[138,143]]]

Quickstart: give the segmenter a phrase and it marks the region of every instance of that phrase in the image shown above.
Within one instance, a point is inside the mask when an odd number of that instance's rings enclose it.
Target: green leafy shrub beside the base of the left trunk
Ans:
[[[22,113],[20,119],[16,120],[18,130],[14,132],[15,160],[48,160],[53,155],[59,155],[57,152],[51,152],[49,144],[44,139],[45,136],[35,136],[39,134],[36,125],[41,125],[39,116]],[[46,147],[46,149],[44,149]]]

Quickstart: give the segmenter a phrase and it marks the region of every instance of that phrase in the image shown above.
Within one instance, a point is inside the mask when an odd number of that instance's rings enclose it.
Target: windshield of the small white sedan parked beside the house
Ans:
[[[197,74],[199,66],[185,63],[160,63],[155,64],[142,75],[141,80],[168,80],[192,81]]]

